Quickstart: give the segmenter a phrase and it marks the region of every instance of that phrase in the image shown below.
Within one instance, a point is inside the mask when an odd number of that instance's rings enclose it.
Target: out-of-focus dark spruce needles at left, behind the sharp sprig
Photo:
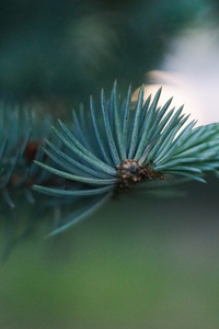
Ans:
[[[48,201],[38,197],[32,185],[53,181],[49,172],[33,162],[50,163],[41,147],[44,138],[51,138],[50,125],[49,116],[33,109],[0,106],[0,224],[7,236],[3,258],[18,240],[36,230],[48,208]]]

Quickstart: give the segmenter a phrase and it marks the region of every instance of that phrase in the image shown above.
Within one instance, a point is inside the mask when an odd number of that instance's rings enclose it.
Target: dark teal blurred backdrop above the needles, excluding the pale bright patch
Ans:
[[[1,1],[1,98],[76,106],[115,79],[122,90],[137,88],[171,38],[217,24],[218,8],[214,0]]]

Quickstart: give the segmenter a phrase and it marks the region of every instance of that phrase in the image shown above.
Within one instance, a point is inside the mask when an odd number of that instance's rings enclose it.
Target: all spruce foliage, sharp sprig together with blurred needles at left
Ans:
[[[49,116],[32,109],[1,105],[4,256],[14,242],[34,232],[50,209],[53,236],[115,194],[129,190],[153,194],[162,189],[175,196],[172,185],[205,182],[206,173],[219,175],[219,124],[196,127],[182,113],[183,106],[170,109],[172,99],[158,106],[160,94],[161,89],[145,102],[142,87],[134,106],[131,87],[122,102],[115,82],[110,100],[102,90],[100,109],[91,97],[90,111],[80,106],[72,112],[72,123],[58,121],[58,128]],[[14,207],[24,201],[31,204],[32,216],[18,220]]]

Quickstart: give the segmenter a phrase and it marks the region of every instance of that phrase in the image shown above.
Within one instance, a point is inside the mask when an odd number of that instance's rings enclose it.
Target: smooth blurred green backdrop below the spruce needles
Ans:
[[[218,328],[218,186],[184,188],[127,194],[56,240],[19,245],[1,266],[0,327]]]

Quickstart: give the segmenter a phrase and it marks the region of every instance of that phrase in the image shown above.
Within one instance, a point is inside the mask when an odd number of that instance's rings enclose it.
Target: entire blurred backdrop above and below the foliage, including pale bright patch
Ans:
[[[162,84],[200,124],[218,122],[218,55],[217,0],[0,4],[1,99],[58,117],[117,79],[122,94]],[[218,181],[181,190],[129,193],[56,239],[20,243],[0,269],[0,328],[218,329]]]

